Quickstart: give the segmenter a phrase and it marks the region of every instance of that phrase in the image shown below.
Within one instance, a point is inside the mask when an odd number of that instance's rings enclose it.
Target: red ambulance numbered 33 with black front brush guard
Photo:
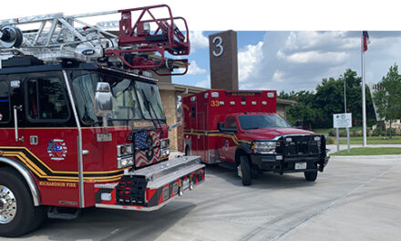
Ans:
[[[274,90],[206,90],[183,98],[180,151],[235,169],[243,185],[261,172],[304,173],[314,182],[327,156],[324,135],[294,129],[276,113]]]

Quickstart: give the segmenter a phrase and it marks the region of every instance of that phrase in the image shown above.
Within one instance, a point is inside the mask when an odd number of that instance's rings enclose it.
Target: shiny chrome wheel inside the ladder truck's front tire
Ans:
[[[0,185],[0,224],[10,223],[14,219],[15,214],[15,195],[8,187]]]

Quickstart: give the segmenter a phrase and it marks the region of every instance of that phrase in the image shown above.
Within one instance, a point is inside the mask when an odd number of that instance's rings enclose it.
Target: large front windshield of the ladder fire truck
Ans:
[[[143,108],[145,100],[143,100],[142,96],[139,96],[139,99],[137,99],[136,92],[139,93],[139,91],[138,89],[135,91],[137,84],[134,85],[134,81],[134,79],[130,79],[129,77],[123,78],[99,73],[89,73],[74,79],[73,89],[77,99],[77,109],[82,121],[87,124],[101,121],[95,115],[94,111],[94,100],[98,82],[108,82],[111,88],[113,111],[108,116],[109,121],[140,120],[143,117],[145,119],[164,120],[164,112],[158,108],[161,106],[161,101],[157,86],[135,81],[139,83],[137,88],[143,88],[145,93],[149,93],[148,100],[157,114],[157,118],[152,118],[154,114],[150,114],[149,110],[144,110]],[[150,91],[151,89],[153,89],[154,93]]]

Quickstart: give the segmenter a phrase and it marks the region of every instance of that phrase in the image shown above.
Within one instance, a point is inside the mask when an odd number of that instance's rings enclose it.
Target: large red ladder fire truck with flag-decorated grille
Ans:
[[[108,15],[120,20],[82,20]],[[169,157],[150,78],[185,74],[188,60],[173,58],[189,53],[185,19],[168,5],[1,20],[0,236],[86,207],[158,210],[202,182],[199,157]]]

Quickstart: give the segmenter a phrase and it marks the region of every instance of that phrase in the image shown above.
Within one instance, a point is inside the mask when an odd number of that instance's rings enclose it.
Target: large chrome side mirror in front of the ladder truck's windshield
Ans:
[[[95,115],[103,118],[103,126],[108,125],[108,114],[113,110],[113,101],[110,85],[107,82],[98,82],[95,94]]]

